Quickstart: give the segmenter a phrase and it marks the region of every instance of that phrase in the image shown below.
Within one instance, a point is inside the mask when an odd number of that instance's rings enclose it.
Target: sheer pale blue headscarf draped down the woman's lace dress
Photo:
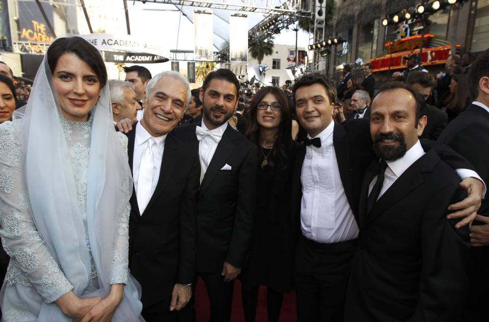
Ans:
[[[16,118],[23,119],[25,181],[36,227],[50,254],[73,285],[73,292],[81,297],[90,281],[91,263],[51,78],[46,53],[34,80],[29,103]],[[100,90],[100,99],[91,115],[87,228],[100,289],[84,297],[105,298],[111,288],[116,225],[131,197],[132,177],[127,154],[114,130],[108,85]],[[124,300],[112,320],[143,320],[139,284],[128,278],[124,292]],[[42,305],[40,321],[67,319],[55,303],[44,302]]]

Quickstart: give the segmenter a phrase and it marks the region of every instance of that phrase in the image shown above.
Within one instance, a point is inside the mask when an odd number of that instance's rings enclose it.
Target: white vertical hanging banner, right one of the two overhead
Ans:
[[[229,18],[229,59],[232,62],[248,61],[248,16],[231,14]]]

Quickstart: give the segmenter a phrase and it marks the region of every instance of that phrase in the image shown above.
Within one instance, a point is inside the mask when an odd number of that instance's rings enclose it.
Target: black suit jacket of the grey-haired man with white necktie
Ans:
[[[132,171],[135,127],[127,137]],[[129,269],[141,284],[143,307],[170,297],[175,283],[193,282],[199,178],[199,156],[170,132],[158,183],[142,216],[132,190]]]

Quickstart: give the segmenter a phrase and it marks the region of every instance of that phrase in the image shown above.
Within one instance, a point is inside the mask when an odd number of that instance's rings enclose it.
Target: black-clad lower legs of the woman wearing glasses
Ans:
[[[241,288],[241,300],[243,302],[244,320],[246,322],[255,322],[259,289],[259,285],[249,291],[245,290],[244,287]],[[268,322],[279,321],[283,301],[284,293],[277,292],[270,287],[266,288],[266,313]]]

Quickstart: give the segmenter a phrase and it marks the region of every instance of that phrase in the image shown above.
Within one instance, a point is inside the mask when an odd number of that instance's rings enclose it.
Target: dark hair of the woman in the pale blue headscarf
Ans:
[[[58,60],[64,53],[74,53],[79,59],[93,69],[100,82],[100,88],[107,83],[107,70],[100,52],[82,37],[56,39],[47,49],[47,63],[51,74],[55,71]]]

